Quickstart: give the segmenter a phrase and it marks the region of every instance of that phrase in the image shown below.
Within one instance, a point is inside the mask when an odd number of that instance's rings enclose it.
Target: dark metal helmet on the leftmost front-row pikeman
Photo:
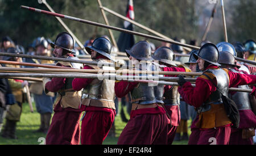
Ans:
[[[52,48],[54,48],[55,45],[57,47],[67,50],[68,52],[75,54],[75,50],[73,50],[75,41],[68,32],[59,33],[59,35],[57,35],[55,39],[55,42],[54,43],[51,42]]]

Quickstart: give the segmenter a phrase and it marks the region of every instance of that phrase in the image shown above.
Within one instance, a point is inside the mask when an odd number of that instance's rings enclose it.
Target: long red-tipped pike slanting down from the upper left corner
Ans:
[[[166,43],[180,45],[181,47],[187,47],[187,48],[196,49],[196,50],[200,49],[200,47],[196,47],[196,46],[193,46],[193,45],[183,44],[183,43],[180,43],[180,42],[177,42],[177,41],[171,41],[171,40],[163,39],[161,37],[147,35],[147,34],[144,34],[144,33],[141,33],[141,32],[135,32],[135,31],[127,30],[127,29],[122,29],[122,28],[118,28],[118,27],[108,26],[106,24],[92,22],[90,20],[75,18],[75,17],[72,17],[72,16],[63,15],[63,14],[57,14],[57,13],[49,12],[49,11],[46,11],[46,10],[35,9],[33,7],[20,6],[20,8],[21,9],[27,9],[27,10],[34,11],[34,12],[39,12],[39,13],[42,13],[42,14],[51,15],[51,16],[59,16],[60,18],[65,18],[65,19],[69,19],[69,20],[75,20],[77,22],[81,22],[81,23],[85,23],[85,24],[90,24],[90,25],[97,26],[97,27],[108,28],[108,29],[113,29],[115,31],[131,33],[133,35],[146,37],[148,39],[153,39],[153,40],[163,41],[163,42],[166,42]],[[238,57],[235,57],[235,58],[236,58],[236,60],[239,59],[239,61],[246,62],[246,63],[252,64],[252,65],[256,65],[255,61],[249,61],[249,60],[245,60],[243,58],[238,58]]]

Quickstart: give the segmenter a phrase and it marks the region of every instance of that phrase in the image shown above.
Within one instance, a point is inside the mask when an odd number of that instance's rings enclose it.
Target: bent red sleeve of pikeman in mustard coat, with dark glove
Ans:
[[[196,87],[193,87],[190,82],[186,82],[178,88],[182,99],[194,107],[200,107],[215,90],[216,87],[212,82],[203,78],[196,79]]]

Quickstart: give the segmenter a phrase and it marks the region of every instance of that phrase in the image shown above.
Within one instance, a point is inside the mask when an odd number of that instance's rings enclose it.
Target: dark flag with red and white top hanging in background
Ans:
[[[134,20],[133,0],[128,0],[126,18]],[[123,22],[123,28],[133,31],[133,24],[125,20],[125,22]],[[125,32],[120,33],[117,41],[117,46],[120,52],[125,52],[126,49],[131,49],[134,44],[134,35]]]

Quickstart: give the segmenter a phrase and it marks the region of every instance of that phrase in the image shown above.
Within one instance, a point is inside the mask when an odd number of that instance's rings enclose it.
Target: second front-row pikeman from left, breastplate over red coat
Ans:
[[[109,69],[111,66],[102,66],[101,63],[110,63],[112,45],[108,39],[98,37],[91,46],[85,47],[96,65],[85,65],[84,69]],[[74,90],[84,88],[85,98],[82,98],[82,108],[86,111],[82,117],[81,144],[102,144],[109,133],[115,116],[115,81],[109,79],[75,78],[72,82]],[[84,95],[83,95],[84,96]]]

